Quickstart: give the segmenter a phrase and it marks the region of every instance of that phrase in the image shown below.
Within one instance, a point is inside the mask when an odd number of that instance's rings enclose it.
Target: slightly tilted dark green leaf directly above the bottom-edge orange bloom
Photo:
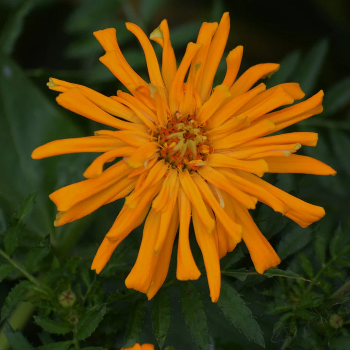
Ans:
[[[140,342],[140,334],[144,327],[146,313],[143,301],[138,302],[130,312],[126,323],[124,348],[132,347]]]

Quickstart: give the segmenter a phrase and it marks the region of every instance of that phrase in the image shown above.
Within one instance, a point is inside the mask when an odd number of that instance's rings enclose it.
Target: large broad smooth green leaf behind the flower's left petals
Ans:
[[[43,237],[53,233],[53,205],[48,193],[58,187],[59,180],[67,180],[66,174],[57,171],[58,164],[67,168],[67,160],[33,160],[31,152],[51,140],[82,136],[53,103],[54,95],[53,102],[48,102],[15,63],[0,55],[0,149],[6,150],[1,154],[6,171],[0,172],[0,198],[15,208],[24,195],[37,192],[27,228]]]

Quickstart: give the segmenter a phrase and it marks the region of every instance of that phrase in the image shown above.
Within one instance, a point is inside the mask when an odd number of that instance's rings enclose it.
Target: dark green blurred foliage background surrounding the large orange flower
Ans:
[[[53,227],[48,194],[80,181],[93,155],[35,161],[30,154],[44,142],[91,135],[98,126],[57,106],[45,84],[53,76],[111,95],[122,87],[98,61],[103,50],[93,31],[115,27],[125,57],[147,80],[125,21],[149,34],[167,18],[181,58],[200,24],[225,11],[227,52],[245,47],[240,72],[279,62],[268,86],[295,81],[307,97],[324,89],[324,112],[290,131],[318,132],[317,147],[301,151],[338,174],[266,175],[327,212],[308,228],[263,205],[252,212],[280,255],[280,269],[257,275],[239,246],[221,261],[222,293],[212,304],[206,277],[176,281],[172,259],[166,283],[149,302],[123,283],[141,228],[101,275],[89,270],[122,202]],[[0,26],[0,350],[114,350],[135,341],[176,350],[350,349],[349,1],[0,0]],[[223,61],[218,82],[225,69]],[[203,271],[196,245],[193,251]]]

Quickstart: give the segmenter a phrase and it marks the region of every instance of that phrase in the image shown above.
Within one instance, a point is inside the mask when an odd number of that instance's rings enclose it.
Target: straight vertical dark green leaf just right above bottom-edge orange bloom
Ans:
[[[153,299],[152,304],[152,324],[153,333],[156,336],[159,348],[162,349],[165,338],[168,335],[170,327],[170,298],[164,291],[160,290]]]

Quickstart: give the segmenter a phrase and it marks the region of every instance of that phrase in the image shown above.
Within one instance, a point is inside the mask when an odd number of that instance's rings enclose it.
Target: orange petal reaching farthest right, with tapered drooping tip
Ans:
[[[335,175],[336,171],[327,164],[306,156],[265,157],[269,173],[298,173],[314,175]]]

